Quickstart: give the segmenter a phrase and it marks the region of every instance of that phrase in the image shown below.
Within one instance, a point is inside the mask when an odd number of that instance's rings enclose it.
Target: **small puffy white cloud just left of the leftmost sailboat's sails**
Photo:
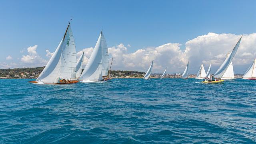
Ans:
[[[24,67],[29,66],[45,66],[47,63],[47,60],[44,60],[43,58],[41,58],[37,52],[36,52],[36,48],[38,46],[34,45],[34,46],[30,46],[27,48],[27,52],[28,55],[23,55],[22,58],[20,59],[20,61],[23,63]]]

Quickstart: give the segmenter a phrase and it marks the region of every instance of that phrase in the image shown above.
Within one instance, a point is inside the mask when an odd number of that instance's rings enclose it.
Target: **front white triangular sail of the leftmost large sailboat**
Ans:
[[[60,63],[62,52],[63,38],[60,41],[57,49],[46,64],[44,70],[36,79],[36,82],[43,82],[45,84],[56,84],[60,82]]]

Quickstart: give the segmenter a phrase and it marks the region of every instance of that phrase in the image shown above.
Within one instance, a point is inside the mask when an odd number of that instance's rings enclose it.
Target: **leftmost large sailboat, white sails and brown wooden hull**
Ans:
[[[70,23],[44,70],[32,83],[73,84],[76,78],[76,46]]]

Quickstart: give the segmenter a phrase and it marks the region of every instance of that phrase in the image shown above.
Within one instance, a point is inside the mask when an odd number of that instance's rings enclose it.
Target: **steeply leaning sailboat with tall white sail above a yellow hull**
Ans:
[[[221,78],[224,75],[224,73],[226,72],[226,70],[227,70],[228,66],[230,65],[231,61],[233,60],[234,56],[236,55],[236,52],[237,52],[238,47],[240,45],[241,39],[242,39],[242,36],[238,40],[238,42],[236,43],[236,46],[233,48],[230,55],[228,55],[228,57],[224,60],[224,62],[220,66],[220,68],[214,74],[212,80],[210,80],[210,81],[204,80],[202,83],[207,83],[208,84],[208,83],[222,83],[222,82],[224,82],[224,80],[221,80]]]

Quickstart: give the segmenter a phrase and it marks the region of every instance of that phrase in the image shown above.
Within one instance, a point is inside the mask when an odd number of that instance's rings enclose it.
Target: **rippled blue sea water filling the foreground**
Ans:
[[[0,80],[0,143],[256,143],[256,81]]]

